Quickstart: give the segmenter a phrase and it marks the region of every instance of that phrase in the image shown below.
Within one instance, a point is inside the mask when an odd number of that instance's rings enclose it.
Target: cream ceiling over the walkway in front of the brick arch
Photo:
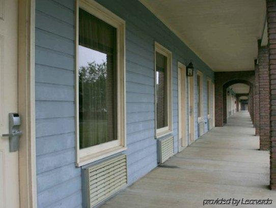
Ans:
[[[254,70],[265,0],[140,0],[214,71]]]

